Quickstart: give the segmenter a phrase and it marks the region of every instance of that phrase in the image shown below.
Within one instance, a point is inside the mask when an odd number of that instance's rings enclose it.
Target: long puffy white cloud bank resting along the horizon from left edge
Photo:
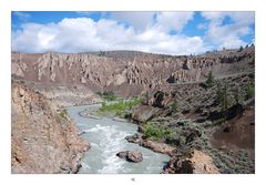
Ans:
[[[12,51],[88,52],[99,50],[137,50],[167,54],[201,53],[209,48],[200,37],[171,35],[151,27],[136,31],[115,20],[90,18],[63,19],[58,23],[25,23],[12,32]]]

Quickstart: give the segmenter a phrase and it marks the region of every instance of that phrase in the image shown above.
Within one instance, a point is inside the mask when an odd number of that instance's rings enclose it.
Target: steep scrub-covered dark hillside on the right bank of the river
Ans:
[[[211,156],[219,173],[255,173],[254,73],[216,79],[209,86],[166,85],[147,94],[130,115],[143,137],[160,136],[176,147],[166,173],[194,173],[194,150]]]

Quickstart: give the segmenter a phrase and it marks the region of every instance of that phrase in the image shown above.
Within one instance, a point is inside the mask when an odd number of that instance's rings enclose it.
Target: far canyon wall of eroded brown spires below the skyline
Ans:
[[[205,80],[253,71],[255,48],[224,50],[195,56],[133,51],[100,53],[12,53],[12,75],[52,84],[83,84],[93,91],[111,90],[124,96],[176,82]]]

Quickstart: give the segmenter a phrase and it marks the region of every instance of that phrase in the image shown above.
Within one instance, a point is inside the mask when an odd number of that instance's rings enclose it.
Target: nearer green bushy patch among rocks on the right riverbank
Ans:
[[[146,138],[154,141],[162,141],[164,138],[173,137],[173,131],[160,124],[146,123],[143,125],[143,134]]]

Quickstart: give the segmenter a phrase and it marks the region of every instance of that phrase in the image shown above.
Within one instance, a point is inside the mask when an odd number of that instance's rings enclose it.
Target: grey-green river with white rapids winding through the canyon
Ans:
[[[125,136],[133,135],[137,125],[114,121],[111,117],[90,119],[79,113],[84,110],[99,109],[100,104],[68,107],[68,114],[76,123],[78,129],[85,133],[82,138],[91,144],[84,154],[79,173],[81,174],[158,174],[170,160],[168,155],[155,153],[134,143]],[[122,151],[137,150],[143,155],[140,163],[130,163],[115,154]]]

